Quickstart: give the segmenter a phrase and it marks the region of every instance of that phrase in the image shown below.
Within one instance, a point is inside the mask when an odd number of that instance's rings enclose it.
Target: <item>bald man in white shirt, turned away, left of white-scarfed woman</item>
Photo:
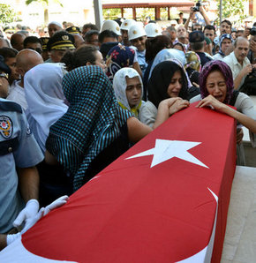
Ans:
[[[27,71],[37,64],[42,64],[43,59],[39,53],[32,49],[23,49],[16,56],[16,71],[20,74],[20,80],[16,81],[7,99],[19,103],[22,109],[26,110],[27,103],[24,90],[24,76]]]

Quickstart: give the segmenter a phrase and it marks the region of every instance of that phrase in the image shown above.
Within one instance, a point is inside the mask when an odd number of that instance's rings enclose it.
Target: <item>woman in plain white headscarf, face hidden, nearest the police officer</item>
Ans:
[[[49,127],[68,109],[62,88],[65,72],[62,64],[48,63],[35,66],[25,75],[26,117],[43,154]],[[37,168],[40,174],[41,206],[64,194],[71,194],[72,184],[62,166],[41,162]]]

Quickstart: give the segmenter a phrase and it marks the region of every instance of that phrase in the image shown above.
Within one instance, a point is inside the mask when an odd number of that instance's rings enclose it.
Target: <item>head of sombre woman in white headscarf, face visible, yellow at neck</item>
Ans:
[[[139,109],[144,101],[142,101],[143,84],[138,71],[132,68],[117,71],[113,79],[113,88],[118,104],[139,117]]]

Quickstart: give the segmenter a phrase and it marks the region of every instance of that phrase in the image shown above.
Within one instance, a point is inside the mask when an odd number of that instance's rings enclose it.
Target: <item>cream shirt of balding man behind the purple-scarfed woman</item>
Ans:
[[[232,53],[230,53],[229,56],[225,56],[222,60],[223,62],[225,62],[226,64],[228,64],[230,66],[230,69],[232,71],[233,74],[233,79],[235,80],[237,78],[237,75],[240,73],[240,71],[242,71],[245,66],[247,64],[251,64],[250,60],[248,59],[248,57],[246,56],[244,61],[243,61],[243,65],[241,65],[238,61],[237,61],[237,57],[235,56],[234,51]],[[243,79],[240,82],[240,85],[238,86],[238,88],[240,86],[242,86],[245,82],[245,78],[246,75],[243,77]]]

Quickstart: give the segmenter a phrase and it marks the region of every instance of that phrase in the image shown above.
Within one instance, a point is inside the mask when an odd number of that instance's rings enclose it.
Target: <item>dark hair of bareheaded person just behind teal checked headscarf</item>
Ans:
[[[67,71],[72,71],[78,67],[87,65],[87,62],[94,64],[96,60],[95,52],[99,50],[93,45],[83,45],[76,49],[74,52],[68,50],[61,62],[67,67]]]

